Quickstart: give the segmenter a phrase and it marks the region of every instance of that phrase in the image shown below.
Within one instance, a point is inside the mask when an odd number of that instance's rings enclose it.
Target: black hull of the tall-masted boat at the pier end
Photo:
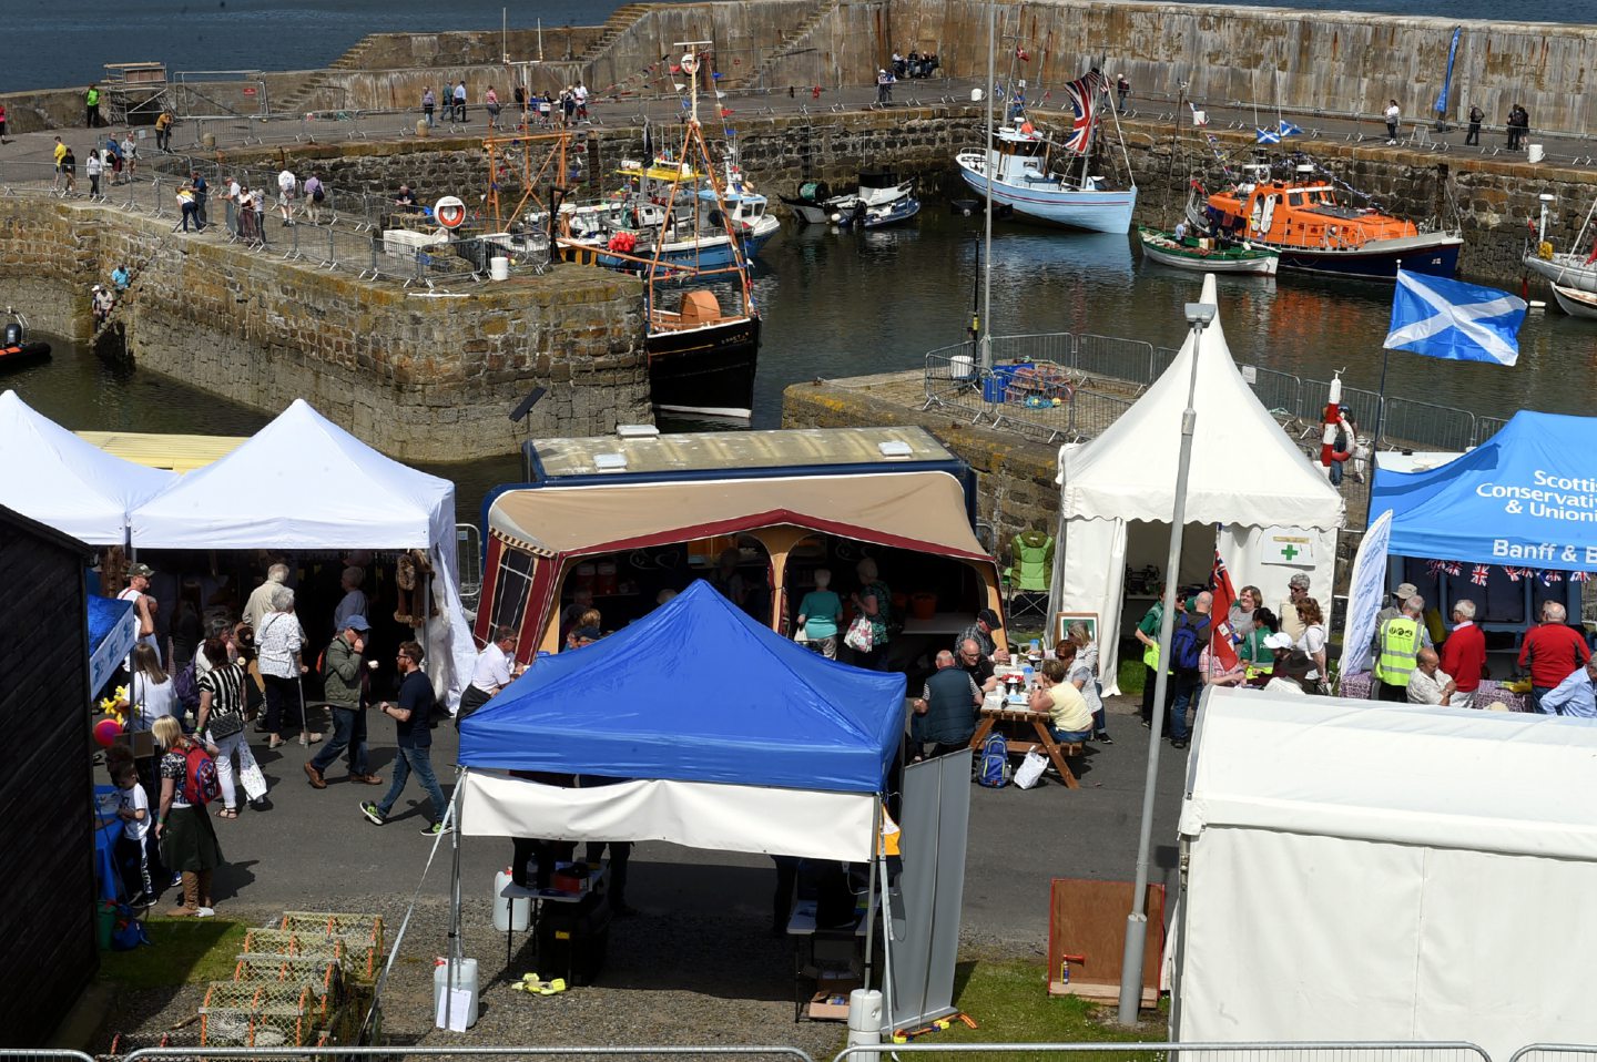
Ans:
[[[696,329],[650,332],[648,390],[661,414],[749,420],[760,318],[733,318]]]

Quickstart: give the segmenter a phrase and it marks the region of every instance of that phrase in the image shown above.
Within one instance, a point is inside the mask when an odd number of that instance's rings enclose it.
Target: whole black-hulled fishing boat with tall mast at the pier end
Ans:
[[[754,195],[741,174],[727,169],[723,184],[711,166],[709,149],[698,117],[698,78],[701,46],[707,42],[688,42],[682,56],[682,70],[693,88],[688,97],[688,121],[682,131],[682,171],[690,160],[703,161],[707,174],[704,187],[684,180],[666,185],[660,204],[666,217],[679,208],[679,196],[687,198],[695,217],[703,216],[717,227],[728,252],[725,265],[709,265],[698,259],[692,267],[671,262],[666,246],[656,244],[644,271],[644,350],[648,356],[648,386],[655,410],[664,415],[715,417],[749,420],[754,415],[754,372],[760,350],[760,316],[754,308],[754,292],[749,286],[749,257],[746,232],[736,212],[739,200]],[[760,196],[763,200],[763,196]],[[770,216],[763,220],[775,224]],[[722,281],[720,287],[735,287],[738,305],[731,310],[722,305],[717,292],[706,286]],[[730,281],[727,284],[725,281]],[[663,305],[666,289],[680,287],[682,295],[674,308]]]

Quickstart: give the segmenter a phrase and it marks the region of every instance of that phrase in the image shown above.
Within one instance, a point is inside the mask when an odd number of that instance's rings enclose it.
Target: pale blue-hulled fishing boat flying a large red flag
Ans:
[[[1129,160],[1126,188],[1112,188],[1107,177],[1088,172],[1099,109],[1108,99],[1107,78],[1092,69],[1067,85],[1065,94],[1075,121],[1064,141],[1049,141],[1017,104],[1011,104],[1009,121],[992,131],[985,149],[965,149],[955,157],[960,177],[971,192],[990,195],[993,206],[1008,208],[1019,217],[1124,235],[1131,232],[1137,206]],[[1118,118],[1115,128],[1119,129]],[[1124,157],[1124,141],[1119,149]]]

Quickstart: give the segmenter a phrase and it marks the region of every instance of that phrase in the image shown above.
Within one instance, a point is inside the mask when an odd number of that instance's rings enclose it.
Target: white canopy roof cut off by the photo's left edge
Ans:
[[[120,546],[128,513],[176,476],[112,457],[24,402],[0,394],[0,505],[91,546]]]

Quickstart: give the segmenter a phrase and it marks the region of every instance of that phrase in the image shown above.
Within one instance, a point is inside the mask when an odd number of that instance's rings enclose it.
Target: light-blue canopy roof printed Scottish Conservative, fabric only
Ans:
[[[1375,470],[1388,553],[1597,572],[1597,418],[1520,410],[1495,436],[1420,473]]]

